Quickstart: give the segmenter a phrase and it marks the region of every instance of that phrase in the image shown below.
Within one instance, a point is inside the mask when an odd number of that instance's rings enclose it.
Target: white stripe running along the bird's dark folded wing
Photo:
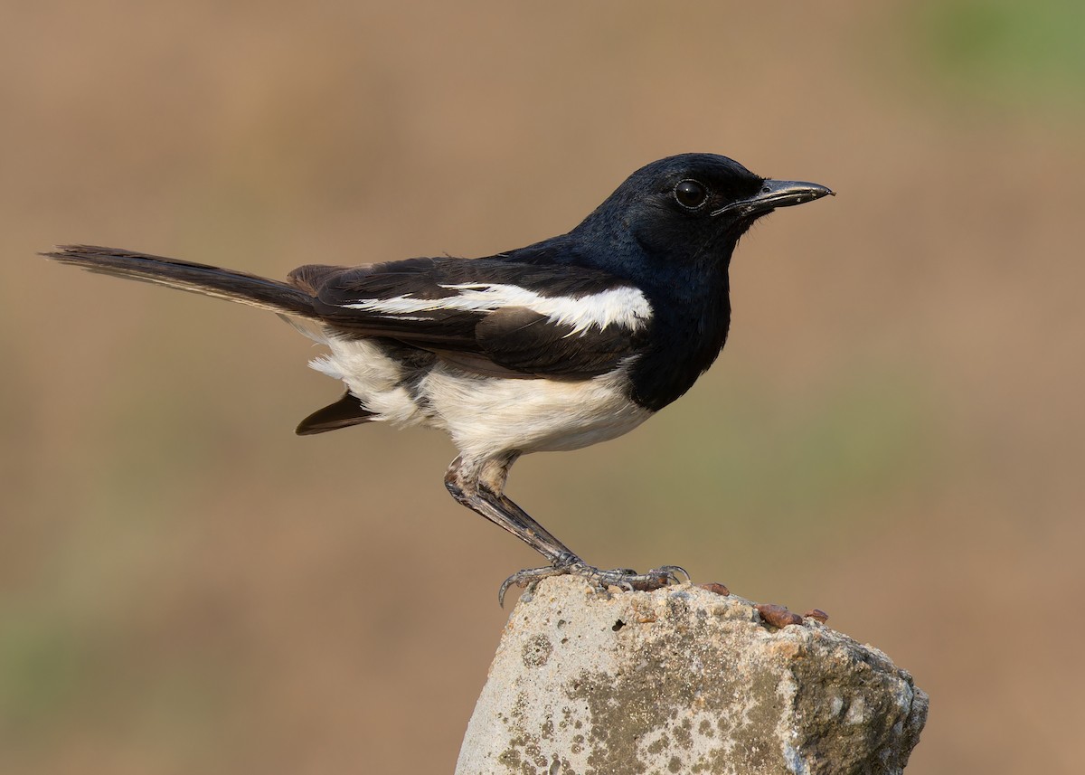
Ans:
[[[407,293],[391,298],[363,298],[343,306],[396,316],[439,309],[492,313],[501,307],[526,307],[545,315],[551,322],[572,326],[573,331],[569,335],[580,333],[592,326],[603,329],[618,325],[637,331],[652,317],[651,304],[635,288],[614,288],[578,298],[542,296],[519,285],[492,282],[465,282],[442,288],[459,293],[445,298],[416,298]]]

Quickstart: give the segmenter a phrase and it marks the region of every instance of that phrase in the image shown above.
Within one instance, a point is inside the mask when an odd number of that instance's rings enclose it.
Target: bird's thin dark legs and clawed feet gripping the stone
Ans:
[[[509,576],[498,592],[498,602],[503,605],[505,593],[512,585],[523,587],[566,573],[584,576],[599,587],[613,585],[628,589],[659,589],[677,582],[679,572],[689,577],[678,566],[663,566],[648,573],[637,573],[628,568],[603,571],[586,563],[503,494],[509,468],[519,456],[519,453],[509,453],[484,460],[464,460],[461,456],[452,461],[445,474],[445,486],[454,498],[509,531],[550,562],[547,567],[528,568]]]

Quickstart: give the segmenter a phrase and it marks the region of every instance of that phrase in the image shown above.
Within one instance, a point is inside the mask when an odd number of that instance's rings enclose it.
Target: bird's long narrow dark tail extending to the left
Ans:
[[[317,317],[312,309],[312,296],[308,293],[284,282],[243,271],[94,245],[60,245],[55,251],[41,255],[103,275],[154,282],[283,315]]]

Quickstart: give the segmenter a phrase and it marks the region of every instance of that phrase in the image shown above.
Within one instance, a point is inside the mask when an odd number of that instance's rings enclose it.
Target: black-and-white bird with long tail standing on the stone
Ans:
[[[633,173],[566,233],[480,258],[309,264],[281,282],[94,245],[41,255],[267,309],[324,345],[309,365],[345,392],[299,435],[373,421],[447,433],[459,453],[448,492],[546,560],[505,581],[503,605],[510,586],[551,575],[626,589],[689,577],[679,566],[588,564],[505,494],[509,470],[529,453],[621,436],[684,395],[727,341],[740,238],[779,207],[830,194],[684,153]]]

